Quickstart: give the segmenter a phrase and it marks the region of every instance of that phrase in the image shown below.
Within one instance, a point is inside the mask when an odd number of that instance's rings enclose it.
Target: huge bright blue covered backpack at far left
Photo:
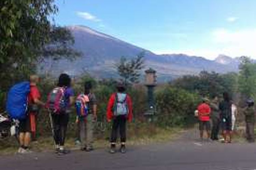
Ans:
[[[26,118],[29,92],[29,82],[18,83],[9,90],[6,111],[12,119],[23,120]]]

